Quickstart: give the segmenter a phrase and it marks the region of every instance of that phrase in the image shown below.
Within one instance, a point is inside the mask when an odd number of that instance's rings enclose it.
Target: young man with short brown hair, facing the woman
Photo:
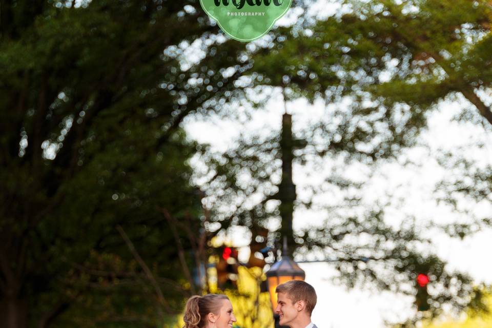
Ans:
[[[290,328],[317,328],[311,322],[316,305],[316,292],[312,285],[301,280],[289,280],[277,286],[277,308],[280,325]]]

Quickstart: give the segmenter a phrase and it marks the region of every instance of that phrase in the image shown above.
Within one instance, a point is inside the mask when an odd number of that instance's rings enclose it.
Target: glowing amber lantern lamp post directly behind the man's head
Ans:
[[[272,311],[276,328],[281,326],[278,322],[278,314],[275,313],[275,309],[277,308],[277,293],[275,293],[275,289],[281,283],[289,280],[304,280],[305,277],[304,270],[289,256],[287,238],[284,237],[282,259],[275,262],[267,272],[267,286],[270,293],[270,300],[272,301]]]

